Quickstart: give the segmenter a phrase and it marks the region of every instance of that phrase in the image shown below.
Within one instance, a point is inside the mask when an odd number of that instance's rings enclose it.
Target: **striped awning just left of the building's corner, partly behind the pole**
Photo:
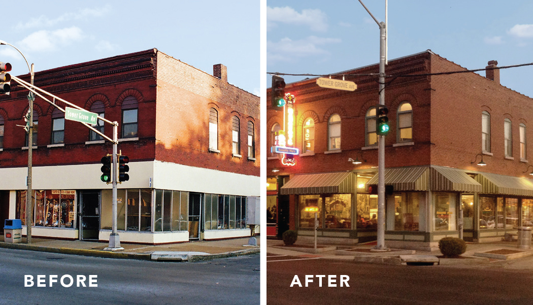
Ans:
[[[377,184],[377,174],[367,182],[367,185],[372,184]],[[394,191],[429,191],[429,168],[385,169],[385,184],[392,185]]]

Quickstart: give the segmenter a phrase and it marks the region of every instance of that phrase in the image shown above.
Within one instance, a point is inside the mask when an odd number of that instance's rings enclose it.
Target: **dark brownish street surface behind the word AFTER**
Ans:
[[[483,267],[408,266],[326,260],[315,255],[267,254],[266,302],[269,305],[531,304],[533,270],[507,267],[500,262]],[[349,277],[349,287],[340,286],[343,275]],[[295,276],[301,287],[295,283]],[[335,287],[329,285],[329,276],[333,276]]]

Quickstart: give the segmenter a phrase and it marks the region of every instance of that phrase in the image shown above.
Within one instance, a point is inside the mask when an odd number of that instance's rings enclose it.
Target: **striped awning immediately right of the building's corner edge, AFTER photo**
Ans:
[[[430,169],[430,187],[432,191],[481,192],[481,184],[455,168],[432,167]]]

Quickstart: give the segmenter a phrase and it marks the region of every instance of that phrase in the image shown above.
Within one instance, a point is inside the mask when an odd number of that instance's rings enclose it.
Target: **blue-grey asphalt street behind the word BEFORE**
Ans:
[[[0,249],[0,304],[259,304],[259,268],[259,255],[186,263]]]

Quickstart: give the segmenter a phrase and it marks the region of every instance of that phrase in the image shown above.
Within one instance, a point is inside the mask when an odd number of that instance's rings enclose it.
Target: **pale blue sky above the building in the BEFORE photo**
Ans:
[[[228,67],[228,82],[260,95],[260,3],[224,1],[4,1],[0,40],[36,71],[156,48],[208,74]],[[28,73],[10,46],[0,61]]]

